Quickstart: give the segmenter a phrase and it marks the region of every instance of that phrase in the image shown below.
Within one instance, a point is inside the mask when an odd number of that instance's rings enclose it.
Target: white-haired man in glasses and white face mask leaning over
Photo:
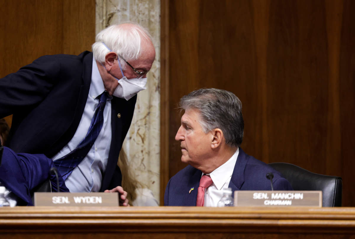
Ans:
[[[92,50],[42,56],[0,79],[0,118],[13,114],[6,146],[53,159],[71,192],[118,191],[127,205],[117,160],[155,49],[146,29],[123,23]]]

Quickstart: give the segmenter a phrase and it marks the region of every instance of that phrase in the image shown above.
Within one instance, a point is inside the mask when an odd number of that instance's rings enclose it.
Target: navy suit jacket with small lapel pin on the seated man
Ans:
[[[274,190],[293,190],[291,184],[281,174],[266,163],[247,155],[239,148],[239,155],[234,166],[229,187],[235,190],[271,190],[270,180],[266,174],[274,174]],[[165,189],[165,206],[196,206],[197,188],[202,172],[187,166],[175,174]],[[190,188],[194,187],[189,193]]]

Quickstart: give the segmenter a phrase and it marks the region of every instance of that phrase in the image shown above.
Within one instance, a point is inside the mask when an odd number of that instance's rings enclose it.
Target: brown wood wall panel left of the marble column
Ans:
[[[0,78],[42,55],[77,55],[94,42],[94,0],[0,1],[0,14]]]

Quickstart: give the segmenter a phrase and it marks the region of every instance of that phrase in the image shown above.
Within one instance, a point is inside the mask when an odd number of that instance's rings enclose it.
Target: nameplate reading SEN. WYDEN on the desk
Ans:
[[[34,206],[119,206],[118,193],[34,193]]]

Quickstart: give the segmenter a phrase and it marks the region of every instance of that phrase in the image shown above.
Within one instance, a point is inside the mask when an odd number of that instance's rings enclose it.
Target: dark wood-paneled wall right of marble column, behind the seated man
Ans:
[[[351,0],[169,1],[169,177],[186,166],[176,104],[214,87],[242,101],[248,154],[343,177],[343,205],[355,206],[354,10]]]

